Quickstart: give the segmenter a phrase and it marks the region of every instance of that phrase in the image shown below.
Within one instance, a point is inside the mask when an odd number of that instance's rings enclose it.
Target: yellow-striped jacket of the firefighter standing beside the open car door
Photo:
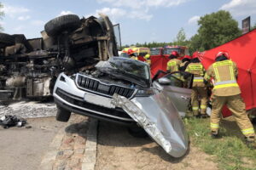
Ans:
[[[185,71],[194,74],[193,87],[206,86],[204,83],[204,75],[206,71],[201,63],[190,63]]]

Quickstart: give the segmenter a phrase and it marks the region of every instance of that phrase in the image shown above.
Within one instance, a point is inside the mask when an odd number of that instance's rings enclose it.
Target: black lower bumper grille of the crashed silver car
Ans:
[[[110,109],[107,107],[103,107],[100,105],[94,105],[89,102],[86,102],[83,100],[83,98],[80,98],[78,96],[75,96],[73,94],[69,94],[62,90],[61,88],[56,89],[56,94],[61,97],[61,99],[66,100],[68,103],[73,104],[73,105],[78,105],[80,107],[84,107],[85,109],[90,109],[91,111],[99,111],[111,116],[118,116],[122,118],[129,118],[131,119],[131,116],[129,116],[122,108],[115,108],[115,109]]]

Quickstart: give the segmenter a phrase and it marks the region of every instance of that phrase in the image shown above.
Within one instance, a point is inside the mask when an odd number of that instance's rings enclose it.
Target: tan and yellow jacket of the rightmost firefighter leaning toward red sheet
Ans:
[[[211,77],[214,80],[212,94],[216,96],[231,96],[241,94],[241,90],[236,82],[238,75],[236,63],[226,59],[213,63],[207,70],[205,80]]]

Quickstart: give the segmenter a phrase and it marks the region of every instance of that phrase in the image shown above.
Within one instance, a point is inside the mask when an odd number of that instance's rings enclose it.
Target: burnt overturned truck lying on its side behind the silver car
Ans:
[[[42,99],[52,95],[56,77],[85,71],[117,56],[108,16],[79,19],[67,14],[49,20],[42,37],[0,33],[0,99]]]

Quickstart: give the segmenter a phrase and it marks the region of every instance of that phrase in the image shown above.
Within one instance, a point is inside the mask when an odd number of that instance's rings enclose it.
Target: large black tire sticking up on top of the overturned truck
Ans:
[[[44,30],[49,37],[60,35],[62,31],[74,31],[81,26],[79,16],[76,14],[67,14],[49,20],[44,25]]]

